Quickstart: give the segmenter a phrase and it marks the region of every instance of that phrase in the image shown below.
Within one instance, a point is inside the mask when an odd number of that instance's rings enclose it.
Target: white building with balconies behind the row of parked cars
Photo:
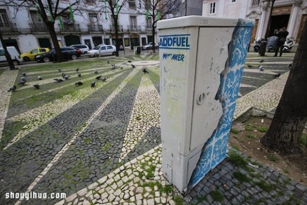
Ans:
[[[102,43],[115,45],[111,13],[102,9],[104,3],[98,0],[84,2],[85,5],[74,12],[74,22],[69,17],[69,11],[68,17],[62,18],[63,28],[59,19],[55,20],[59,45],[86,44],[90,48]],[[118,2],[121,4],[120,0]],[[59,6],[65,8],[68,4],[69,1],[62,0]],[[37,47],[53,48],[50,34],[37,8],[21,6],[17,13],[15,9],[13,6],[0,5],[0,31],[6,46],[15,46],[20,53]],[[129,0],[118,15],[121,48],[131,49],[132,46],[142,46],[152,41],[151,19],[146,20],[146,16],[139,15],[137,9],[140,9],[138,1]]]

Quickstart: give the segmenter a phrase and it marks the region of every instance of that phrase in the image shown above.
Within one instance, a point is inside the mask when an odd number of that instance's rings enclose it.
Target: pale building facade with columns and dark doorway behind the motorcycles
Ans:
[[[203,16],[255,19],[251,41],[276,34],[286,27],[288,37],[299,42],[307,18],[307,0],[275,0],[269,24],[272,0],[205,0]]]

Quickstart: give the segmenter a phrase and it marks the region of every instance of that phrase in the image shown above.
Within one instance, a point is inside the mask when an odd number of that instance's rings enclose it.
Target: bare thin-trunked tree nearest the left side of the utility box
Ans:
[[[140,1],[139,14],[145,15],[147,19],[151,19],[152,31],[152,52],[156,52],[155,32],[157,22],[166,17],[167,14],[178,12],[180,2],[178,0],[143,0]]]

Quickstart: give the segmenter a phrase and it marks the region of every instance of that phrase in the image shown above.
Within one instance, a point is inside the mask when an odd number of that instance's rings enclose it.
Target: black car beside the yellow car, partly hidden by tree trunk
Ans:
[[[62,57],[64,59],[75,60],[78,57],[80,57],[80,54],[81,54],[80,49],[77,50],[73,47],[61,47],[60,49],[61,49],[61,53],[63,54]],[[35,56],[35,60],[40,63],[41,62],[48,63],[50,61],[56,60],[55,49],[51,49],[48,53]]]

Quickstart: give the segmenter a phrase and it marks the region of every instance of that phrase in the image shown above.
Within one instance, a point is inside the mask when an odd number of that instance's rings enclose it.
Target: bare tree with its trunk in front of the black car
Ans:
[[[59,6],[60,0],[0,0],[0,5],[14,7],[15,14],[18,13],[20,7],[35,8],[49,31],[56,51],[57,62],[61,62],[63,58],[54,28],[55,20],[67,11],[72,13],[73,10],[77,10],[80,2],[80,0],[74,0],[72,3],[67,2],[67,5],[62,7]]]

